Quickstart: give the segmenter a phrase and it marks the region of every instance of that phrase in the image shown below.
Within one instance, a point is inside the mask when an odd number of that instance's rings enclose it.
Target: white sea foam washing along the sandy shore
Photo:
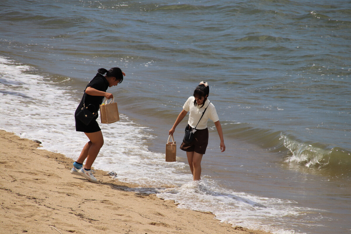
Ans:
[[[42,149],[76,159],[87,141],[74,128],[73,113],[79,100],[72,105],[67,90],[43,76],[27,74],[28,70],[32,68],[0,57],[0,128],[39,140]],[[210,179],[193,182],[190,174],[182,173],[184,163],[166,163],[164,154],[148,150],[145,139],[154,138],[150,129],[126,115],[120,117],[119,122],[100,125],[105,144],[94,168],[114,171],[115,179],[140,185],[132,191],[156,193],[176,201],[179,208],[212,212],[221,222],[277,234],[295,233],[285,217],[298,217],[308,209],[291,201],[226,190]]]

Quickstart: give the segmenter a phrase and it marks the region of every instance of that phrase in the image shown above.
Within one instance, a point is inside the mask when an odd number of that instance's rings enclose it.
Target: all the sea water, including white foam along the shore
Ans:
[[[120,121],[103,125],[94,168],[180,208],[272,233],[351,231],[348,1],[2,1],[0,128],[72,162],[86,143],[74,111],[97,69]],[[202,180],[168,131],[200,81],[209,121]],[[185,118],[187,119],[187,118]],[[181,143],[186,120],[174,134]],[[62,175],[64,176],[64,174]],[[71,176],[67,171],[66,176]]]

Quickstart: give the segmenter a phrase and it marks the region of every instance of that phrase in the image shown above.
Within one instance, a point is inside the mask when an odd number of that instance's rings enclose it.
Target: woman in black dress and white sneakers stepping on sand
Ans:
[[[82,121],[80,121],[76,115],[84,105],[88,106],[90,104],[93,106],[89,106],[89,109],[91,109],[92,112],[97,113],[99,110],[99,105],[104,98],[113,98],[112,93],[106,92],[107,88],[117,86],[122,82],[123,76],[125,76],[125,73],[118,67],[111,68],[109,71],[107,71],[105,68],[100,68],[95,77],[88,83],[82,100],[80,101],[74,114],[75,130],[77,132],[84,132],[89,141],[83,147],[77,161],[73,163],[71,173],[84,176],[91,182],[97,182],[97,179],[91,172],[91,166],[98,156],[102,145],[104,145],[104,137],[102,136],[101,129],[96,121],[98,115],[90,123],[88,123],[88,125],[85,125]],[[83,162],[85,159],[86,162],[83,167]]]

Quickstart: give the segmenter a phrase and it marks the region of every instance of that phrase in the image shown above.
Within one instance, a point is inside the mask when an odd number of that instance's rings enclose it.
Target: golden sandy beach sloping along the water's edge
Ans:
[[[16,233],[264,234],[220,223],[210,213],[179,209],[136,185],[95,170],[99,183],[69,173],[72,159],[0,131],[0,229]]]

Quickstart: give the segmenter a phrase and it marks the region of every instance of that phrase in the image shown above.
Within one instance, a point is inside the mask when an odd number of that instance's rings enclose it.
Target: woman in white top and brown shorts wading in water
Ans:
[[[188,158],[188,163],[194,180],[201,179],[201,159],[206,152],[206,147],[208,144],[208,119],[211,119],[217,128],[217,132],[220,138],[221,152],[225,151],[222,127],[219,122],[216,108],[210,102],[210,100],[207,99],[209,93],[210,87],[208,87],[207,82],[200,82],[200,84],[194,90],[194,95],[189,97],[185,102],[183,111],[180,112],[176,119],[176,122],[174,122],[172,129],[169,131],[169,134],[173,135],[178,124],[184,119],[185,115],[190,112],[188,119],[188,128],[196,128],[196,132],[194,133],[194,140],[190,143],[181,143],[180,149],[186,151],[186,156]],[[205,113],[203,114],[204,111]]]

